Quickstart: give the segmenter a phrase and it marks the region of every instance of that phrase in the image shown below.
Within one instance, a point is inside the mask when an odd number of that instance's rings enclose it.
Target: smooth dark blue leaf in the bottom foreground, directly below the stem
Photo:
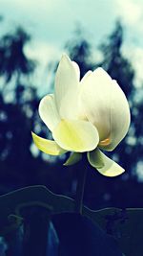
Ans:
[[[62,256],[122,256],[118,243],[98,224],[75,213],[52,217]]]

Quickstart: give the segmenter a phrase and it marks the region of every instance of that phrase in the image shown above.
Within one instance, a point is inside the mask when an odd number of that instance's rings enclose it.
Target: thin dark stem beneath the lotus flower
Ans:
[[[83,197],[85,190],[85,183],[87,177],[87,168],[84,165],[84,170],[80,169],[77,176],[77,187],[76,187],[76,195],[75,195],[75,212],[82,215],[82,207],[83,207]]]

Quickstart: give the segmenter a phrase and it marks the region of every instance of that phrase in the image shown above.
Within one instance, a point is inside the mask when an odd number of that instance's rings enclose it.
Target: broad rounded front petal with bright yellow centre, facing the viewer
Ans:
[[[53,139],[67,151],[92,151],[99,142],[96,128],[82,120],[61,120],[52,131]]]

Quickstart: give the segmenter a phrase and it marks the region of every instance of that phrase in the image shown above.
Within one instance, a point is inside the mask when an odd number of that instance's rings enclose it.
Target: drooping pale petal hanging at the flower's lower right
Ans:
[[[92,167],[96,168],[101,175],[117,176],[125,172],[121,166],[98,149],[88,152],[88,160]]]

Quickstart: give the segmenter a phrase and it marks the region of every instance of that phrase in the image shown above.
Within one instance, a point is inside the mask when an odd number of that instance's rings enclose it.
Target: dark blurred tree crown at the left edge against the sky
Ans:
[[[31,40],[22,28],[14,34],[4,35],[0,40],[0,75],[6,82],[16,77],[17,83],[22,75],[30,75],[35,67],[34,61],[28,59],[24,52],[25,45]]]

